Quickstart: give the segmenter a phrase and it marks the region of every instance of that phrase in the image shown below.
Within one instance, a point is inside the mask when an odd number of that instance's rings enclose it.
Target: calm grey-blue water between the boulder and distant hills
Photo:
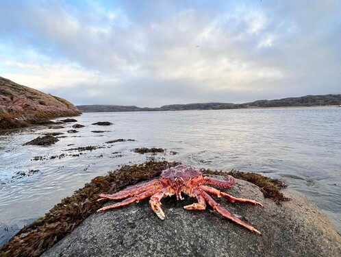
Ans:
[[[66,132],[74,124],[67,123],[60,130],[34,127],[0,135],[0,245],[97,175],[146,160],[131,151],[136,147],[165,148],[168,154],[160,158],[195,167],[255,171],[285,180],[323,209],[341,232],[341,108],[86,113],[76,119],[86,125],[77,134]],[[114,124],[91,125],[97,121]],[[49,147],[23,146],[47,132],[67,137]],[[136,142],[105,143],[117,138]],[[88,145],[104,148],[80,156],[67,150]],[[60,154],[66,156],[50,159]],[[29,170],[39,171],[17,174]]]

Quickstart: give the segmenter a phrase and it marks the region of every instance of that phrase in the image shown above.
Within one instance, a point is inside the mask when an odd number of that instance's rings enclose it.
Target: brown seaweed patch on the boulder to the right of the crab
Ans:
[[[231,175],[233,178],[238,178],[240,180],[246,180],[259,186],[260,191],[262,191],[264,197],[273,199],[276,204],[281,204],[281,201],[290,201],[288,197],[284,197],[283,193],[280,192],[282,188],[286,188],[287,185],[281,180],[276,180],[268,178],[264,175],[254,173],[254,172],[244,172],[232,169],[229,172],[226,171],[211,171],[210,169],[201,169],[204,174],[207,175]]]

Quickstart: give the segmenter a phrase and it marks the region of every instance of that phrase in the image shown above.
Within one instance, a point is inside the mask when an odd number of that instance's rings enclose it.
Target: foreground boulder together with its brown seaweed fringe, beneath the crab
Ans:
[[[207,256],[210,252],[214,256],[227,253],[229,256],[338,256],[341,253],[340,235],[314,204],[300,193],[286,189],[283,182],[256,173],[231,171],[229,174],[243,180],[237,180],[228,193],[260,201],[264,209],[218,202],[262,230],[263,236],[227,221],[210,208],[198,212],[183,210],[182,206],[195,201],[190,197],[184,201],[173,197],[162,200],[165,221],[157,219],[147,200],[94,214],[103,204],[96,201],[99,193],[112,193],[151,180],[163,169],[177,164],[149,161],[126,165],[105,177],[94,178],[45,217],[18,232],[0,248],[0,255],[40,256],[45,251],[42,256],[170,256],[173,251],[177,256]],[[209,176],[225,174],[202,172]]]

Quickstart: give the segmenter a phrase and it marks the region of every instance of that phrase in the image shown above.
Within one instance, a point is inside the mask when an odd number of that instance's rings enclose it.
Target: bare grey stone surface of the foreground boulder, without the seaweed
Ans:
[[[242,180],[236,180],[227,193],[264,204],[261,208],[217,199],[262,236],[228,221],[210,207],[203,211],[182,208],[195,199],[167,197],[162,200],[164,221],[145,199],[91,215],[42,256],[341,256],[341,236],[301,193],[283,190],[292,201],[282,206],[264,199],[257,186]]]

